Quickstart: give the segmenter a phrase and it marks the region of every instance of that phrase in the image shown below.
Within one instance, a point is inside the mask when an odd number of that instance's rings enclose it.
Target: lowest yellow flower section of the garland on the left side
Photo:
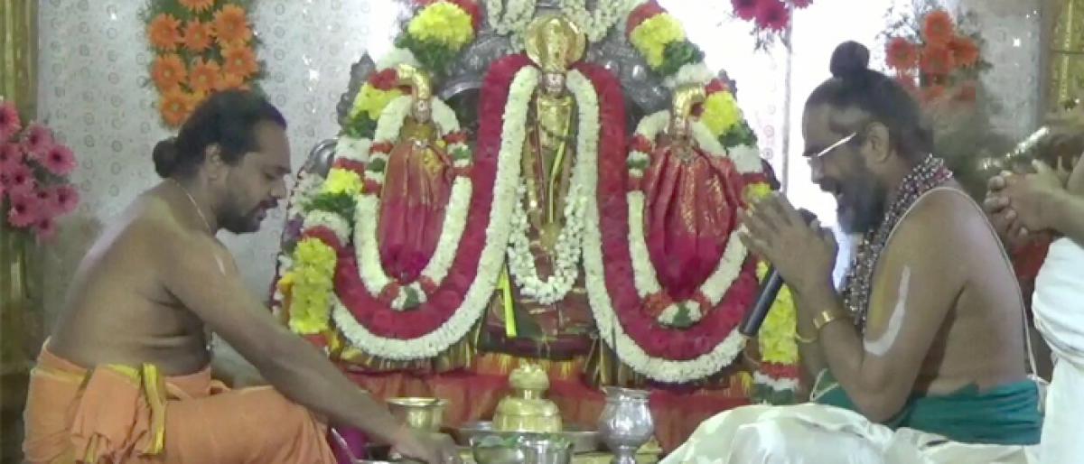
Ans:
[[[334,292],[335,250],[320,239],[309,237],[294,249],[294,270],[283,278],[293,282],[289,328],[301,335],[328,327],[331,293]],[[280,285],[282,281],[280,281]]]

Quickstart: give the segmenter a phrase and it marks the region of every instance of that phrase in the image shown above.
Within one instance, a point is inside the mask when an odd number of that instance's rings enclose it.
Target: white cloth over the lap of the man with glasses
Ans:
[[[661,464],[1037,464],[1033,447],[966,444],[840,408],[751,405],[718,414]]]

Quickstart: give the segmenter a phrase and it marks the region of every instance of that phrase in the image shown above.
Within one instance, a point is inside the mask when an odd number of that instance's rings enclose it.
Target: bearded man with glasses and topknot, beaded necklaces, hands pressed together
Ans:
[[[930,155],[899,83],[848,42],[803,117],[813,181],[861,234],[841,293],[836,242],[783,196],[753,205],[743,241],[790,286],[813,403],[706,422],[666,463],[1025,462],[1038,441],[1023,306],[981,208]],[[963,451],[963,452],[962,452]]]

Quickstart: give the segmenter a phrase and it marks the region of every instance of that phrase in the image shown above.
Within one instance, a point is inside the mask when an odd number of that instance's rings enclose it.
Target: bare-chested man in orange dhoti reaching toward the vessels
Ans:
[[[263,98],[211,95],[80,265],[29,388],[31,463],[332,463],[326,427],[360,428],[428,463],[416,436],[288,333],[245,287],[219,230],[255,232],[286,194],[286,121]],[[273,386],[210,379],[205,327]],[[59,461],[57,461],[59,460]]]

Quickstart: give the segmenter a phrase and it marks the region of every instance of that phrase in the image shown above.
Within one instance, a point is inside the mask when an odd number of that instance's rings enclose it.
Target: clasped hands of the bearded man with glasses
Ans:
[[[839,245],[830,230],[816,220],[806,224],[778,192],[754,202],[740,218],[741,243],[771,262],[791,292],[834,292],[831,271]]]

